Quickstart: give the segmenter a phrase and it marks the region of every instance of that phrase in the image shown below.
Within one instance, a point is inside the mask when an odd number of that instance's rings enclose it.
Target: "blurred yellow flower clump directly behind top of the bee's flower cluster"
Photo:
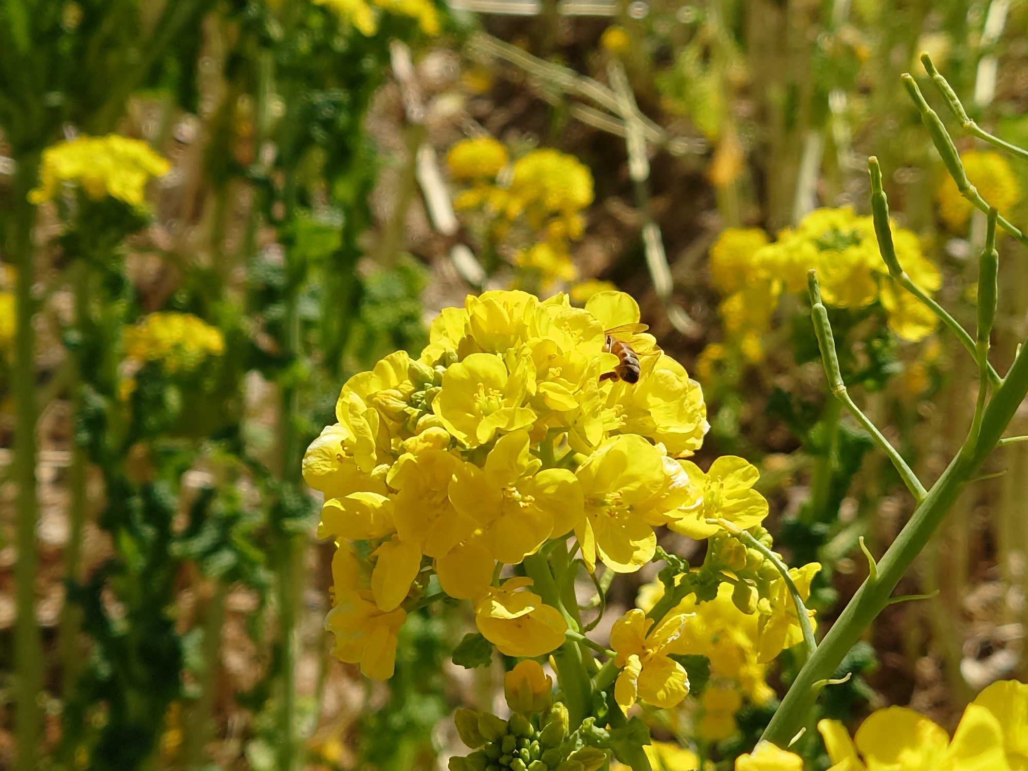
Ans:
[[[504,238],[522,221],[535,243],[516,252],[514,262],[539,277],[542,289],[578,278],[570,243],[582,237],[582,212],[593,200],[592,174],[574,155],[542,148],[513,162],[491,137],[458,142],[446,158],[454,179],[468,183],[457,209],[484,208],[494,218],[493,235]]]

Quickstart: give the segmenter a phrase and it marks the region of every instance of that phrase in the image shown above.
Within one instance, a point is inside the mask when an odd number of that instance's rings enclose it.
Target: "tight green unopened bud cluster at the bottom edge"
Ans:
[[[605,750],[568,735],[560,702],[544,714],[515,712],[509,721],[471,709],[457,709],[453,720],[461,741],[475,751],[450,758],[450,771],[597,771],[608,759]]]

